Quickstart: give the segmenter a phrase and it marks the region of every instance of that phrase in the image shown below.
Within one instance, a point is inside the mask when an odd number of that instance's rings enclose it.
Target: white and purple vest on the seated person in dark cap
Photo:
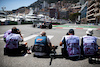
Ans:
[[[69,57],[80,56],[79,37],[75,35],[65,36],[66,50]]]

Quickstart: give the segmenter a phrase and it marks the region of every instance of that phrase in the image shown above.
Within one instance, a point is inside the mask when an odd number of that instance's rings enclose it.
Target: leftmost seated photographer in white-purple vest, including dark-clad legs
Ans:
[[[6,45],[4,46],[4,55],[7,54],[31,54],[29,51],[27,42],[20,44],[19,42],[23,41],[23,36],[21,35],[21,31],[13,27],[11,33],[6,37]]]

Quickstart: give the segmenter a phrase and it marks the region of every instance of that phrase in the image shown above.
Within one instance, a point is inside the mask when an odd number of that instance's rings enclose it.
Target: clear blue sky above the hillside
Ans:
[[[27,7],[36,1],[37,0],[0,0],[0,10],[2,10],[2,7],[6,7],[4,10],[11,11],[22,6]]]

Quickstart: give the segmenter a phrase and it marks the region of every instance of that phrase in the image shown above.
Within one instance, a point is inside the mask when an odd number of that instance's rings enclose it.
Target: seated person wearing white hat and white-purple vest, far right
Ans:
[[[92,36],[93,29],[88,29],[81,39],[81,53],[83,56],[93,56],[98,51],[97,38]]]

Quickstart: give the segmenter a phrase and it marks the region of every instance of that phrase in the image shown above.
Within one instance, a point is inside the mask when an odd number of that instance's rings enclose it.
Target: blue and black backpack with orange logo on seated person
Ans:
[[[34,43],[34,52],[45,52],[47,45],[47,37],[46,36],[37,36]]]

